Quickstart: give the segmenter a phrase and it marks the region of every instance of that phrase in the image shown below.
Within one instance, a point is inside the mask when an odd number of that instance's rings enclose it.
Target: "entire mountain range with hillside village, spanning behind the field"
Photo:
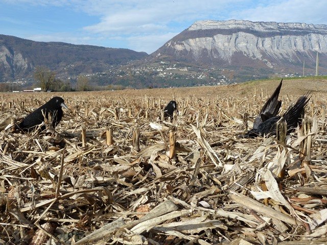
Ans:
[[[0,35],[2,81],[31,78],[34,68],[44,65],[63,79],[94,76],[92,82],[101,86],[217,85],[300,76],[303,62],[305,75],[312,75],[317,53],[319,74],[327,74],[324,24],[199,20],[150,55],[124,48],[35,42],[13,36],[6,36],[5,42],[4,37]]]

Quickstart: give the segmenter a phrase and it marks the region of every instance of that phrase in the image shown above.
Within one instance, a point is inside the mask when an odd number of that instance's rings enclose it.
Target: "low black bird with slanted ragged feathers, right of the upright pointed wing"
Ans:
[[[302,114],[305,106],[308,104],[310,97],[303,95],[299,97],[294,105],[291,105],[283,116],[274,116],[265,121],[263,121],[256,129],[249,130],[245,135],[241,136],[244,138],[253,138],[256,136],[263,136],[264,134],[275,134],[276,133],[276,123],[278,120],[282,119],[286,121],[287,133],[291,133],[294,129],[301,124]]]

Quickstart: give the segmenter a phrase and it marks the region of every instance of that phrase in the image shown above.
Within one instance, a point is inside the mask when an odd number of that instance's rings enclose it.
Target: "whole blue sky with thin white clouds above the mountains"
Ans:
[[[310,3],[311,2],[311,3]],[[197,20],[327,24],[325,0],[0,0],[0,34],[148,54]]]

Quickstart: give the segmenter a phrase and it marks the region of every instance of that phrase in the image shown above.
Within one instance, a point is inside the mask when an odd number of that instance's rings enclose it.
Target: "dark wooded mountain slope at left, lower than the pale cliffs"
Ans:
[[[103,72],[145,56],[144,52],[125,48],[36,42],[0,35],[0,82],[32,77],[36,66],[46,66],[58,77],[67,78]]]

